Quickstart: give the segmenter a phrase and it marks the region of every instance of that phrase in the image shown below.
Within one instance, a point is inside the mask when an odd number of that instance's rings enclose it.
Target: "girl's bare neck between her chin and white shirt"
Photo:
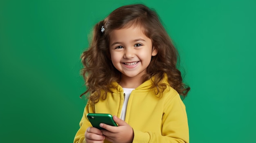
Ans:
[[[142,78],[132,78],[132,77],[121,77],[120,86],[122,88],[137,88],[142,84]]]

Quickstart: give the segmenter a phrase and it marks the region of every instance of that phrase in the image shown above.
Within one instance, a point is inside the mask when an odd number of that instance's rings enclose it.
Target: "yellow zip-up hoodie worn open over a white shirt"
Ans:
[[[164,80],[164,83],[167,83]],[[151,79],[130,94],[125,122],[134,132],[132,143],[189,143],[189,126],[184,103],[176,90],[167,86],[161,98],[150,89]],[[116,82],[105,100],[93,106],[87,104],[79,123],[74,143],[85,143],[85,130],[91,127],[87,113],[108,113],[120,117],[124,103],[124,90]],[[104,143],[109,143],[105,140]]]

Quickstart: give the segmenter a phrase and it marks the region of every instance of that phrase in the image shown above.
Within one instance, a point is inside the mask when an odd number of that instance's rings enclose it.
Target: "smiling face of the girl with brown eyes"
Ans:
[[[122,79],[141,79],[157,50],[140,27],[131,26],[112,31],[110,55],[113,65],[122,73]]]

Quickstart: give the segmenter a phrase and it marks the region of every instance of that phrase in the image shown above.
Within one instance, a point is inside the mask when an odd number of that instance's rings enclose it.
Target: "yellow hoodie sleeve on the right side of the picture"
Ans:
[[[180,95],[165,101],[162,134],[134,130],[132,143],[189,143],[186,109]]]

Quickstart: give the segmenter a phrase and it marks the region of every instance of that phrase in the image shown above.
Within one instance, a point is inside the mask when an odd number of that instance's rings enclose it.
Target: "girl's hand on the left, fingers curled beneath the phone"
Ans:
[[[103,136],[101,130],[89,127],[85,131],[85,141],[86,143],[103,143],[105,136]]]

